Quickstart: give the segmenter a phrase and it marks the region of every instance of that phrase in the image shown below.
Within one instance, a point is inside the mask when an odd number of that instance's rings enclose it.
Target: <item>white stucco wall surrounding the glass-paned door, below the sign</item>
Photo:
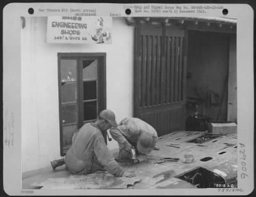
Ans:
[[[35,17],[21,28],[23,172],[60,158],[58,52],[106,52],[107,108],[117,122],[133,113],[133,28],[113,18],[111,45],[75,45],[46,43],[46,26],[46,17]],[[118,145],[111,141],[108,147]]]

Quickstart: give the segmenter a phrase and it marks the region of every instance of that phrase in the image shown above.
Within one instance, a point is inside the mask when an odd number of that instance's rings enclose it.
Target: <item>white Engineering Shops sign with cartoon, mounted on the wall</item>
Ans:
[[[47,43],[111,43],[112,17],[67,17],[47,19]]]

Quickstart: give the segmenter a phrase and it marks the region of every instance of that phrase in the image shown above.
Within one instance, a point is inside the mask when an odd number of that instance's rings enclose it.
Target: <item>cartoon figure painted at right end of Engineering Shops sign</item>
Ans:
[[[104,41],[109,40],[109,38],[111,38],[111,34],[103,30],[103,19],[100,17],[97,20],[97,29],[93,30],[92,40],[96,43],[104,43]]]

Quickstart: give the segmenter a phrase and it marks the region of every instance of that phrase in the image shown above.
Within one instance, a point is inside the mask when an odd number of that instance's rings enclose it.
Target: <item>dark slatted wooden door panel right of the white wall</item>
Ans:
[[[185,31],[150,25],[135,31],[134,116],[152,125],[159,136],[184,130]]]

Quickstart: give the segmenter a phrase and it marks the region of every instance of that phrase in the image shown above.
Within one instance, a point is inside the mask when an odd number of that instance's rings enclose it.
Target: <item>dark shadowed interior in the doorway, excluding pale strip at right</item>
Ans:
[[[227,121],[229,55],[230,34],[188,31],[187,115]]]

